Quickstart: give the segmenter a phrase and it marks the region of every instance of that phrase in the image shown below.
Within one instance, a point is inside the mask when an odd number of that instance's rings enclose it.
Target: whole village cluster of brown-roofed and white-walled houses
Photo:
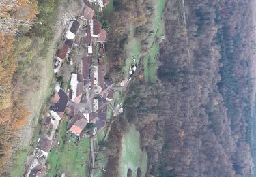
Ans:
[[[100,8],[105,7],[108,0],[91,0]],[[65,33],[65,41],[57,52],[54,61],[54,73],[61,71],[61,67],[70,54],[70,50],[77,45],[85,45],[86,51],[79,59],[77,73],[71,74],[70,88],[64,91],[58,84],[51,97],[51,106],[44,122],[44,131],[38,139],[38,146],[33,155],[27,157],[23,176],[45,176],[51,164],[46,163],[51,148],[59,144],[55,138],[55,131],[61,119],[68,119],[67,131],[71,135],[86,138],[94,135],[106,126],[108,101],[113,100],[115,84],[111,78],[106,78],[106,64],[104,63],[104,42],[106,31],[96,20],[91,4],[85,1],[85,6],[76,19],[71,20]],[[80,30],[83,25],[84,30]],[[76,39],[77,34],[82,39]],[[82,33],[82,35],[81,35]],[[78,42],[79,41],[79,42]],[[82,43],[82,44],[81,44]],[[97,53],[96,53],[97,48]],[[90,125],[93,130],[85,131]],[[54,145],[55,144],[55,145]]]

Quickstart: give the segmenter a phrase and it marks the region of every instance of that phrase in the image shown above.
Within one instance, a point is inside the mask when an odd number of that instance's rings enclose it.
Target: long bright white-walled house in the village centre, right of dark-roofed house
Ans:
[[[68,95],[72,102],[80,103],[83,93],[83,76],[73,73],[70,80]]]

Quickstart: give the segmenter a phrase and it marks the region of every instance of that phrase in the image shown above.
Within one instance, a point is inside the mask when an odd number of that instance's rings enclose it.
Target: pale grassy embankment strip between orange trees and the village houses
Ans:
[[[12,80],[15,94],[20,94],[30,112],[25,125],[12,140],[10,176],[20,176],[27,154],[33,150],[40,131],[39,118],[47,112],[53,84],[53,59],[70,16],[81,10],[83,1],[47,0],[38,3],[39,14],[31,29],[21,29],[14,42],[18,67]],[[18,94],[17,94],[18,93]],[[42,114],[42,110],[46,111]],[[34,137],[35,140],[31,141]]]

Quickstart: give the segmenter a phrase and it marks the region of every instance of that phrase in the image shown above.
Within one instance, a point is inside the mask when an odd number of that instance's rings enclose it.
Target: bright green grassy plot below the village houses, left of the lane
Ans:
[[[47,163],[51,164],[51,169],[47,176],[60,176],[62,173],[68,176],[87,176],[89,140],[81,140],[79,144],[76,144],[76,138],[70,140],[70,135],[66,134],[66,123],[61,124],[57,137],[59,148],[52,149],[48,155]]]

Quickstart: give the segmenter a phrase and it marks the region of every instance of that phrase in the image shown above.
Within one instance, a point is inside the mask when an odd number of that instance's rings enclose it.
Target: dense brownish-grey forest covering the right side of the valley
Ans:
[[[158,81],[133,80],[109,140],[136,125],[150,159],[147,176],[251,176],[251,1],[181,2],[165,7]],[[111,162],[120,146],[109,148],[109,176],[118,175]]]

